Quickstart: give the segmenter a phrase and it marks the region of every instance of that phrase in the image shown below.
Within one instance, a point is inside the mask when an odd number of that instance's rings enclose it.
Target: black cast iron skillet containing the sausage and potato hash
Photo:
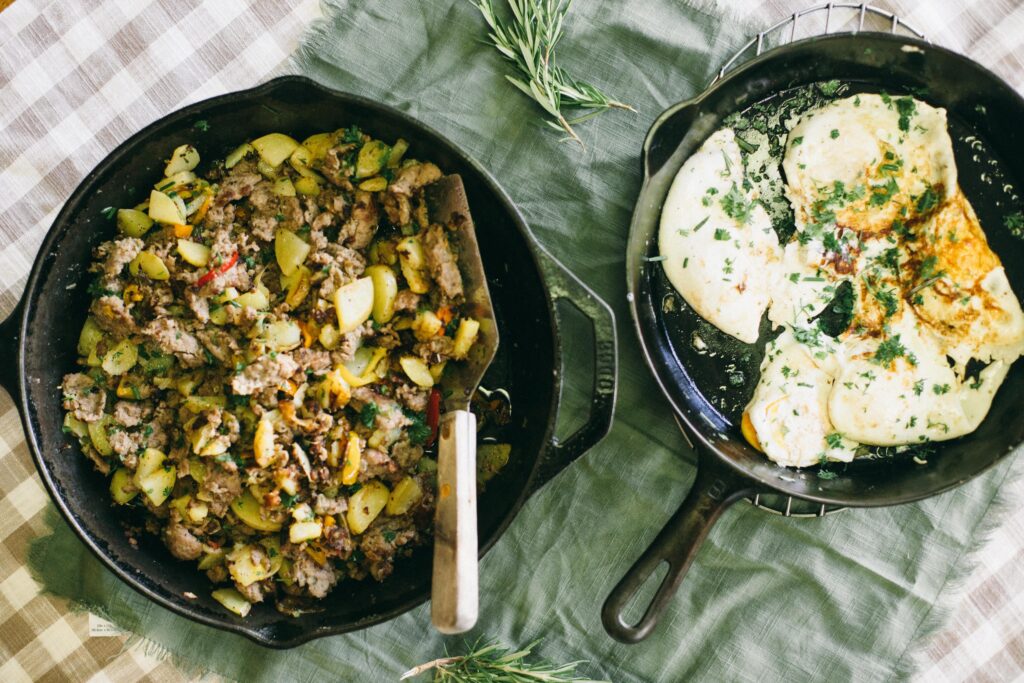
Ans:
[[[131,519],[130,512],[112,507],[104,477],[61,432],[59,384],[75,369],[76,340],[89,301],[85,268],[90,252],[115,232],[101,213],[104,207],[134,205],[140,190],[160,180],[161,160],[178,144],[191,142],[212,161],[263,133],[282,131],[301,139],[352,124],[386,140],[404,137],[410,157],[459,173],[466,184],[502,332],[501,350],[483,386],[508,389],[513,401],[509,463],[479,497],[479,545],[485,552],[532,492],[607,432],[615,396],[614,319],[607,304],[534,242],[522,216],[479,164],[406,114],[305,78],[284,77],[161,119],[115,150],[71,196],[43,242],[20,303],[0,326],[0,354],[9,358],[0,366],[0,383],[20,408],[43,482],[85,545],[125,583],[164,607],[271,647],[361,629],[422,603],[430,594],[430,549],[397,562],[384,583],[343,582],[318,612],[292,618],[261,604],[238,618],[210,597],[212,587],[195,563],[175,560],[156,538],[143,537],[137,549],[128,544],[122,522]],[[596,349],[590,416],[562,441],[553,436],[562,385],[559,301],[590,318]]]

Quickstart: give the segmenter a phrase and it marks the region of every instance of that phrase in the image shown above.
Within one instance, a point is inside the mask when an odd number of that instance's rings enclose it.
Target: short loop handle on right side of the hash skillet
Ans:
[[[541,454],[534,479],[528,485],[529,494],[550,481],[605,437],[614,417],[618,383],[618,342],[615,314],[611,307],[540,245],[538,255],[548,280],[552,302],[557,304],[559,301],[566,301],[590,321],[594,331],[594,384],[587,421],[564,439],[552,439]],[[559,325],[558,307],[555,306],[556,328]],[[558,382],[561,381],[559,375]]]

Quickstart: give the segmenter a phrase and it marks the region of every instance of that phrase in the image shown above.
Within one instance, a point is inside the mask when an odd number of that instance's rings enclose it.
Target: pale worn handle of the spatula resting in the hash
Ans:
[[[473,628],[479,609],[476,538],[476,417],[441,416],[431,618],[441,633]]]

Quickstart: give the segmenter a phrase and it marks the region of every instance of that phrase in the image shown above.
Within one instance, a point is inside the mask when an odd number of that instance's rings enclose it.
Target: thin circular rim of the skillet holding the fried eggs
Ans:
[[[828,495],[828,494],[816,494],[814,492],[801,490],[799,494],[790,492],[787,488],[780,485],[780,482],[784,483],[784,479],[781,477],[768,478],[765,476],[759,476],[749,468],[744,467],[741,463],[735,462],[732,458],[726,456],[722,453],[715,444],[716,440],[727,440],[727,441],[737,441],[737,435],[734,433],[735,428],[729,431],[718,431],[712,432],[711,429],[705,423],[700,423],[694,420],[688,411],[681,408],[677,403],[673,393],[669,389],[670,384],[665,377],[663,377],[662,370],[654,359],[653,348],[657,346],[654,339],[656,338],[656,332],[653,328],[647,329],[641,321],[639,306],[641,304],[647,305],[648,303],[653,306],[653,302],[650,297],[641,297],[640,295],[640,282],[643,272],[643,260],[642,257],[647,249],[649,240],[656,239],[656,228],[649,236],[648,241],[641,243],[639,240],[639,224],[645,222],[642,220],[642,215],[647,211],[643,206],[645,203],[650,202],[648,197],[650,193],[651,184],[651,173],[650,173],[650,152],[651,145],[657,135],[657,132],[663,125],[674,116],[680,112],[689,108],[699,108],[708,98],[712,96],[719,88],[724,87],[726,84],[738,81],[746,77],[748,72],[757,69],[763,62],[770,59],[778,58],[779,55],[785,54],[791,51],[798,51],[806,48],[811,44],[821,44],[830,42],[846,42],[854,41],[862,37],[867,37],[872,40],[881,40],[882,42],[890,42],[899,45],[911,45],[922,50],[937,51],[944,53],[946,58],[951,58],[955,61],[969,67],[975,72],[980,72],[987,75],[993,82],[995,82],[1001,90],[1004,96],[1015,100],[1017,108],[1024,113],[1024,96],[1019,93],[1015,88],[1013,88],[1005,79],[992,72],[987,67],[975,61],[974,59],[951,50],[940,45],[936,45],[927,40],[913,38],[909,36],[899,36],[891,33],[874,32],[874,31],[860,31],[860,32],[845,32],[845,33],[833,33],[822,36],[811,36],[798,41],[786,43],[784,45],[778,45],[773,47],[760,55],[757,55],[751,59],[748,59],[739,67],[736,67],[732,71],[725,74],[725,76],[715,80],[703,90],[698,92],[696,95],[681,100],[675,104],[672,104],[665,109],[651,123],[647,130],[647,134],[644,136],[643,145],[641,147],[641,170],[642,170],[642,181],[640,185],[640,190],[637,195],[637,199],[634,203],[633,216],[630,220],[630,229],[627,237],[627,257],[626,257],[626,287],[627,287],[627,299],[630,308],[630,317],[633,322],[633,328],[637,335],[640,350],[643,353],[644,361],[647,365],[650,374],[653,375],[655,382],[657,382],[658,388],[662,390],[662,394],[669,401],[675,417],[682,421],[684,425],[683,431],[684,436],[695,441],[693,443],[694,452],[696,455],[696,466],[708,467],[711,464],[701,462],[705,458],[714,458],[714,466],[722,467],[724,466],[726,470],[739,478],[759,484],[767,489],[763,493],[778,493],[785,496],[792,496],[794,498],[811,501],[823,505],[840,505],[845,507],[860,507],[860,508],[874,508],[874,507],[885,507],[889,505],[902,505],[905,503],[913,503],[921,501],[933,496],[938,496],[946,492],[952,490],[959,485],[974,479],[975,477],[987,472],[989,469],[997,465],[1005,458],[1013,454],[1024,440],[1020,440],[1017,443],[1012,444],[1010,447],[992,455],[990,459],[987,460],[982,466],[977,468],[975,471],[958,477],[954,480],[943,483],[940,486],[921,490],[919,488],[910,488],[909,490],[904,489],[903,493],[899,495],[888,495],[884,499],[872,499],[870,497],[859,497],[851,498],[845,496]],[[680,140],[681,142],[681,140]],[[679,144],[676,145],[678,150]],[[685,161],[683,162],[685,163]],[[657,210],[658,216],[660,215],[660,205],[664,204],[664,200],[658,203],[659,207]],[[656,308],[656,306],[653,306]],[[682,365],[682,364],[680,364]],[[695,415],[701,413],[701,411],[696,408],[692,408],[692,412]],[[987,419],[987,418],[986,418]],[[707,456],[706,456],[707,454]],[[791,467],[779,467],[779,471],[791,471],[799,472],[798,468]]]

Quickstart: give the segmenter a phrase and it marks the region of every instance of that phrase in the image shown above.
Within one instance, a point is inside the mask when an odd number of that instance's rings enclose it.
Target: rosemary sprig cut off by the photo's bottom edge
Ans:
[[[399,680],[432,670],[434,683],[607,683],[578,677],[575,668],[582,661],[561,666],[543,660],[526,661],[538,642],[514,652],[493,640],[477,641],[467,654],[458,656],[449,656],[445,649],[445,656],[410,669]]]

